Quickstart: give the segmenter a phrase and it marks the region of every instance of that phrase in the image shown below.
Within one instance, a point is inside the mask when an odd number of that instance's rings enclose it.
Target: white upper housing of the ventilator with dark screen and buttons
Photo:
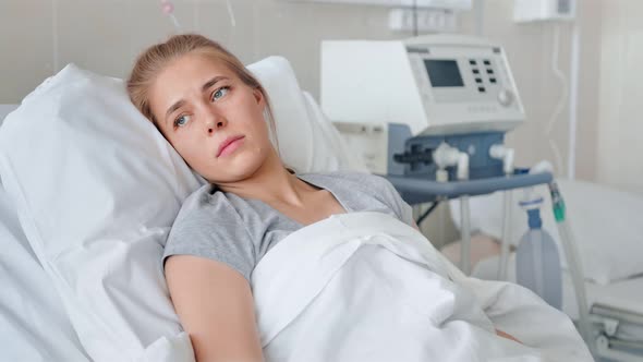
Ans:
[[[525,119],[505,51],[476,37],[326,40],[320,83],[331,121],[402,123],[413,136],[507,132]]]

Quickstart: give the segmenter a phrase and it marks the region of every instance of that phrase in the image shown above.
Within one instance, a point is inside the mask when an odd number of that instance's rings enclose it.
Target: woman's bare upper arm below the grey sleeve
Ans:
[[[263,361],[253,295],[241,274],[208,258],[173,255],[166,279],[197,362]]]

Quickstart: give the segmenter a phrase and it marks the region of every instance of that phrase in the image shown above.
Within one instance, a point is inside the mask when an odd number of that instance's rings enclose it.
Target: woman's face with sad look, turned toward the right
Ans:
[[[151,85],[149,106],[166,138],[213,183],[246,179],[274,153],[263,94],[202,53],[163,69]]]

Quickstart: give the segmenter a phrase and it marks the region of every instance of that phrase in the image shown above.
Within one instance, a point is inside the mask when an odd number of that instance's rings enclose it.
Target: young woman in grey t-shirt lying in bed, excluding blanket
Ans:
[[[163,256],[197,361],[263,359],[248,280],[289,233],[364,210],[415,227],[410,206],[383,178],[287,169],[270,142],[275,125],[265,89],[233,55],[203,36],[179,35],[147,49],[128,92],[209,181],[185,201]]]

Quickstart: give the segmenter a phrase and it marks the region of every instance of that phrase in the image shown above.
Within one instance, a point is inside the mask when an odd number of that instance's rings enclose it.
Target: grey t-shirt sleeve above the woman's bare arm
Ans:
[[[223,263],[248,281],[255,265],[253,240],[234,207],[222,194],[204,190],[183,203],[166,242],[163,266],[172,255]]]

